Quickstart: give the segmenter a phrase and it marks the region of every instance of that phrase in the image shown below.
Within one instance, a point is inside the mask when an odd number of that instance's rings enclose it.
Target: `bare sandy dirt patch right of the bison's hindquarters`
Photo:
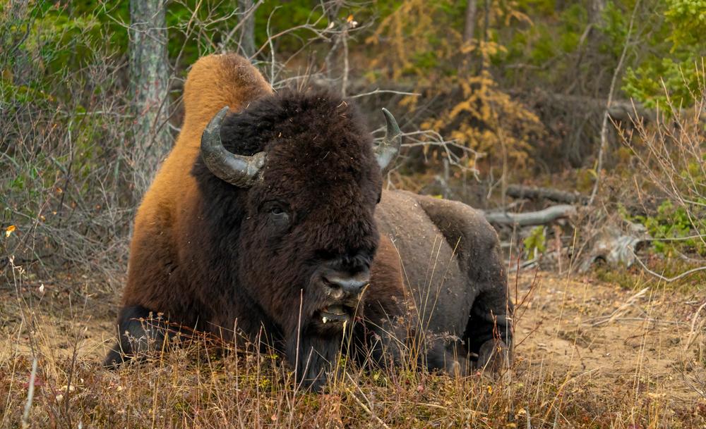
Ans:
[[[685,349],[703,291],[626,290],[589,277],[539,273],[520,275],[517,293],[518,301],[530,294],[517,311],[518,368],[580,378],[599,392],[621,385],[669,394],[676,402],[700,397],[684,374],[703,379],[703,356],[693,344]]]

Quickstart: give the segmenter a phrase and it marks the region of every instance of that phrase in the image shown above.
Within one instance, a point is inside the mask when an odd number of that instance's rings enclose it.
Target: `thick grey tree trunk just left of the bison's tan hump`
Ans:
[[[135,192],[150,185],[162,156],[169,149],[169,70],[164,0],[130,1],[130,94],[133,96]]]

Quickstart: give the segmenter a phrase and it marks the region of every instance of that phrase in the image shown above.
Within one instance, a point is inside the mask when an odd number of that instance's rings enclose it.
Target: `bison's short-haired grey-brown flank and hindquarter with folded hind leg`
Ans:
[[[480,213],[456,201],[400,191],[383,192],[376,213],[381,235],[400,254],[419,316],[412,328],[436,342],[427,349],[443,343],[452,355],[477,354],[493,332],[510,344],[507,275],[496,232]],[[431,359],[429,366],[448,367]]]

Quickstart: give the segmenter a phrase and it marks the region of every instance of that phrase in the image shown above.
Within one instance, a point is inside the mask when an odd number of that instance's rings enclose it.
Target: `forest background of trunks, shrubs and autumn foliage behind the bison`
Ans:
[[[508,202],[508,188],[523,197],[512,185],[544,185],[654,237],[704,231],[703,145],[669,172],[645,147],[700,110],[701,0],[11,1],[0,16],[4,267],[123,271],[184,77],[221,51],[251,57],[275,89],[352,97],[373,129],[390,108],[407,138],[388,187],[506,212],[542,208]],[[661,173],[688,178],[662,189]],[[552,232],[522,235],[534,251]]]

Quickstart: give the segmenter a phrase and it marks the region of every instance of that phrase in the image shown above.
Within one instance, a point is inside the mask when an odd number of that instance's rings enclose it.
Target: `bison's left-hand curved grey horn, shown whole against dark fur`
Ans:
[[[265,165],[265,152],[253,156],[232,154],[223,147],[220,128],[228,113],[222,108],[206,125],[201,135],[201,157],[211,173],[217,178],[237,187],[250,187],[257,180],[258,172]]]

